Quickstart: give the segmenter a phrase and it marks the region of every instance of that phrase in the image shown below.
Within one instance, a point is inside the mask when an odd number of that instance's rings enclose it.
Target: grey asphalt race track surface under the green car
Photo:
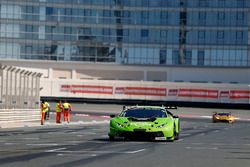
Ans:
[[[90,111],[91,107],[88,110],[84,107],[84,111]],[[116,109],[111,112],[112,108],[103,106],[103,114],[96,111],[92,116],[83,110],[80,115],[76,112],[69,124],[56,125],[52,113],[45,126],[0,129],[0,166],[250,166],[248,121],[227,124],[212,123],[206,117],[181,117],[178,141],[109,141],[109,118],[101,116],[116,112]],[[212,110],[201,112],[208,114]],[[241,116],[247,117],[247,111],[244,112],[246,115]],[[199,115],[193,110],[190,113]]]

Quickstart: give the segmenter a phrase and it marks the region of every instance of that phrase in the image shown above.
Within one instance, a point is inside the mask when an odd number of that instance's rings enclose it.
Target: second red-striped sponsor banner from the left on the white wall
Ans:
[[[121,95],[144,95],[144,96],[166,96],[166,88],[152,87],[116,87],[115,94]]]

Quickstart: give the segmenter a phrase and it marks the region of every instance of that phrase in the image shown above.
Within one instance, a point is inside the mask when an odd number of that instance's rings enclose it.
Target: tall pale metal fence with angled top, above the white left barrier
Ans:
[[[0,64],[0,109],[38,109],[41,76]]]

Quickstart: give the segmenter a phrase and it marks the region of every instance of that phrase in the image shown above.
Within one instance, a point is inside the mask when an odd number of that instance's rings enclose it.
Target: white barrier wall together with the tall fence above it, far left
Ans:
[[[0,64],[0,127],[40,122],[41,76]]]

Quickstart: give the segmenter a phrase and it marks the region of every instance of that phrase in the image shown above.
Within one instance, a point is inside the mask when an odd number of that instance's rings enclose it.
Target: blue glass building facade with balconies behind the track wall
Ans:
[[[0,59],[250,66],[248,0],[1,0]]]

